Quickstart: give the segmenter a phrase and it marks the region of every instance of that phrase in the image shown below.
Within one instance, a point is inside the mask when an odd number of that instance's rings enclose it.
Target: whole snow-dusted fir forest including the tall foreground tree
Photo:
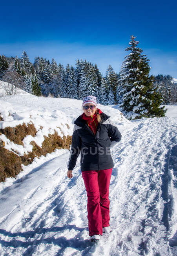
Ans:
[[[61,98],[84,98],[94,95],[103,105],[121,104],[122,111],[129,119],[164,116],[160,104],[175,104],[176,84],[167,75],[149,76],[149,59],[142,54],[138,41],[131,35],[129,46],[119,73],[111,65],[102,76],[97,64],[77,60],[76,66],[64,67],[43,57],[29,61],[27,53],[22,56],[0,56],[0,79],[7,81],[5,74],[13,73],[18,87],[36,96]],[[14,81],[15,82],[15,81]]]

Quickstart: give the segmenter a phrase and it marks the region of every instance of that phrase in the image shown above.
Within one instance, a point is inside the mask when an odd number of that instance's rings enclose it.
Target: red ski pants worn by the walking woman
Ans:
[[[111,169],[82,171],[87,191],[89,236],[102,235],[102,228],[109,226],[109,184]]]

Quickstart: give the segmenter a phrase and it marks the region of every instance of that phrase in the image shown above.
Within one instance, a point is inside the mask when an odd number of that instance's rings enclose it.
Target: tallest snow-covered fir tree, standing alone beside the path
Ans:
[[[120,81],[122,82],[123,101],[122,108],[129,119],[141,117],[161,117],[165,115],[161,95],[153,91],[153,76],[149,76],[150,67],[146,55],[142,55],[142,49],[137,47],[131,35],[131,41],[125,50],[131,51],[125,57],[120,70]]]

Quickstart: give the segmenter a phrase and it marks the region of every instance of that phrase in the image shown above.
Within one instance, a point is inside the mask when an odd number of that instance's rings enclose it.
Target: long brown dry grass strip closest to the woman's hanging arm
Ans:
[[[69,149],[69,145],[72,141],[72,136],[63,136],[63,139],[58,136],[57,132],[55,134],[49,134],[48,137],[44,136],[44,141],[42,143],[42,147],[40,148],[35,141],[31,141],[31,145],[33,145],[32,152],[28,154],[24,154],[21,156],[22,163],[24,165],[28,165],[32,163],[35,157],[46,156],[47,153],[51,153],[55,151],[56,148],[67,148]]]

